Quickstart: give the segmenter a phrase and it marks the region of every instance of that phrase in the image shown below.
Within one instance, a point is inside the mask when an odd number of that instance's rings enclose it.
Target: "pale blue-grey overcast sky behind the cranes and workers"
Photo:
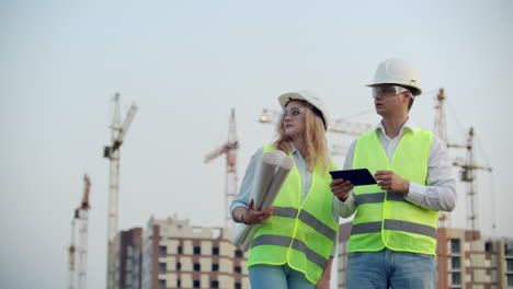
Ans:
[[[226,160],[203,160],[227,140],[231,107],[240,183],[251,154],[274,137],[256,120],[264,107],[280,108],[282,93],[311,89],[332,118],[377,124],[364,84],[390,57],[421,70],[424,93],[410,114],[419,126],[433,129],[444,88],[449,141],[465,142],[475,128],[476,162],[493,167],[478,174],[480,227],[512,238],[512,12],[506,0],[1,1],[2,287],[67,287],[70,223],[88,173],[88,287],[104,288],[102,150],[114,93],[123,117],[139,107],[122,147],[118,228],[173,215],[218,227]],[[332,144],[353,139],[329,134]],[[453,227],[466,226],[465,193],[459,183]]]

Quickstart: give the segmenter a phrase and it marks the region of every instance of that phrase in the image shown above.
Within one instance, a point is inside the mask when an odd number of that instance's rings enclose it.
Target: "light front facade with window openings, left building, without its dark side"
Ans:
[[[247,258],[225,228],[150,218],[142,241],[145,289],[249,289]]]

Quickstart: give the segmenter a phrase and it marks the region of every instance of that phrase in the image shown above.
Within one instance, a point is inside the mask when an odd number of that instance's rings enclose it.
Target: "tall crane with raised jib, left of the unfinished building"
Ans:
[[[103,157],[110,160],[109,171],[109,216],[107,216],[107,289],[115,285],[115,252],[117,233],[117,207],[119,195],[119,148],[123,144],[126,131],[137,113],[137,106],[132,104],[125,120],[121,122],[119,94],[114,95],[114,115],[111,128],[111,146],[104,147]]]

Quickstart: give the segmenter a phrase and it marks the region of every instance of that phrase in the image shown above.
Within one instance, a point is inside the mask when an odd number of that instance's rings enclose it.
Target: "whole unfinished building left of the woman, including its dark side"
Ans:
[[[150,218],[146,229],[122,232],[117,241],[115,288],[251,288],[230,229]]]

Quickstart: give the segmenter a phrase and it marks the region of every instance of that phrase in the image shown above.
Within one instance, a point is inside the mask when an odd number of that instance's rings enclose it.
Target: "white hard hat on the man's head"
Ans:
[[[399,58],[390,58],[379,63],[374,74],[374,83],[367,86],[377,84],[398,84],[409,89],[413,96],[422,93],[419,70]]]

